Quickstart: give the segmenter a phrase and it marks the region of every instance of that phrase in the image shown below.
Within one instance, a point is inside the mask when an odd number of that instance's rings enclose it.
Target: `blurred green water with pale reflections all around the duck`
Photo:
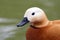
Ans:
[[[0,40],[26,40],[28,25],[17,28],[26,9],[40,7],[49,20],[60,19],[60,0],[0,0]]]

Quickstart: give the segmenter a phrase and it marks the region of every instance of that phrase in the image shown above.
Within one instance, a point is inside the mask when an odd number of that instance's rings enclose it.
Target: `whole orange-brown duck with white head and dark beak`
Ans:
[[[30,25],[26,31],[26,40],[60,40],[60,20],[48,20],[41,8],[28,8],[17,27],[27,23]]]

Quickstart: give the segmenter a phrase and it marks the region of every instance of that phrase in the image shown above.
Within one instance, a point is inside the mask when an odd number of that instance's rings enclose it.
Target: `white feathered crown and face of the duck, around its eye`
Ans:
[[[34,15],[32,15],[34,13]],[[27,17],[30,22],[41,20],[44,11],[38,7],[32,7],[26,10],[24,17]]]

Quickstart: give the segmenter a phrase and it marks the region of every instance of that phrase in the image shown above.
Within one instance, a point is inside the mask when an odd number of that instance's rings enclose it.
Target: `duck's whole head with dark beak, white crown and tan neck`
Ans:
[[[23,20],[17,24],[17,27],[22,27],[27,23],[35,27],[40,27],[48,23],[48,19],[44,11],[38,7],[32,7],[26,10]]]

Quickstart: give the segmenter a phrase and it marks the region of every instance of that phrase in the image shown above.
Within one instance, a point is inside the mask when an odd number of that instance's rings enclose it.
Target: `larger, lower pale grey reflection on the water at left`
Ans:
[[[0,26],[0,40],[12,37],[15,34],[13,30],[16,30],[14,25]]]

